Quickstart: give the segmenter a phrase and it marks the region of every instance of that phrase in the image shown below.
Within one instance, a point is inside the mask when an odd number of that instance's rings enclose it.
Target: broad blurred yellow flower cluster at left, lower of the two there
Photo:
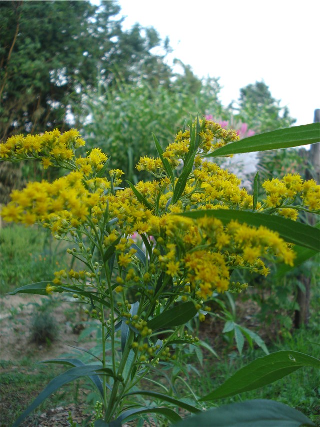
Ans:
[[[79,171],[72,171],[52,183],[30,182],[23,190],[14,190],[11,202],[2,208],[5,221],[32,225],[41,223],[53,234],[63,234],[83,224],[88,215],[98,211],[103,202],[106,178],[92,178],[89,183]]]

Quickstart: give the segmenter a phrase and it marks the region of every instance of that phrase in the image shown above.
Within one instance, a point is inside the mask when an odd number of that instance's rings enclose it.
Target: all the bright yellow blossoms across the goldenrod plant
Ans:
[[[177,215],[199,209],[253,207],[253,197],[240,188],[235,175],[205,160],[208,152],[237,140],[236,132],[226,131],[211,121],[201,122],[201,126],[194,168],[175,204],[172,196],[178,179],[171,182],[161,159],[143,157],[137,166],[157,179],[138,182],[135,191],[129,187],[119,189],[121,170],[109,171],[109,179],[100,177],[99,171],[107,161],[100,149],[91,150],[84,158],[75,157],[74,149],[84,144],[77,131],[62,135],[52,131],[34,138],[11,137],[1,145],[2,158],[15,161],[44,156],[54,164],[65,161],[64,166],[73,170],[52,183],[29,183],[25,189],[13,191],[11,202],[2,209],[2,217],[27,225],[41,223],[59,236],[72,229],[87,235],[93,230],[100,235],[103,251],[107,252],[110,246],[117,251],[116,292],[139,282],[148,295],[154,294],[162,274],[183,298],[199,301],[210,297],[214,290],[227,290],[231,269],[244,268],[267,275],[264,260],[274,256],[293,265],[292,249],[265,227],[249,227],[236,221],[223,225],[208,216],[193,220]],[[175,169],[180,159],[184,162],[188,158],[189,150],[190,132],[181,131],[163,157]],[[257,209],[274,208],[277,214],[296,219],[297,209],[290,203],[297,195],[310,209],[319,208],[319,186],[313,180],[303,182],[299,175],[288,174],[281,180],[265,181],[263,188],[266,199],[264,205],[257,204]],[[136,234],[143,237],[148,251],[143,268],[137,268],[140,258],[136,246],[132,248],[131,236]],[[58,272],[54,285],[62,283],[64,275],[78,280],[85,272]]]

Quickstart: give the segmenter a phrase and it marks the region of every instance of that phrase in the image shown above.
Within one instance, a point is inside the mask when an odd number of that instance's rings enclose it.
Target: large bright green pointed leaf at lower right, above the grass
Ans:
[[[271,384],[280,378],[294,372],[302,366],[312,366],[320,369],[320,360],[297,351],[283,350],[259,357],[239,369],[231,378],[200,401],[222,399],[234,396],[244,391],[255,390]]]

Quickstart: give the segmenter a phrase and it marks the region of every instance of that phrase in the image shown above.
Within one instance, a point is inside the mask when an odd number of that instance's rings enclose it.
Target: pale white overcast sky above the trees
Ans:
[[[98,3],[99,0],[93,0]],[[227,106],[263,80],[296,125],[320,108],[318,0],[117,0],[123,28],[136,22],[170,39],[173,58],[199,77],[219,77]]]

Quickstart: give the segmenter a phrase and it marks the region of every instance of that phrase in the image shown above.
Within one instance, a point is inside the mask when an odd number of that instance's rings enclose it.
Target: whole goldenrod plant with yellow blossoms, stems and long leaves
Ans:
[[[14,425],[60,386],[82,376],[88,376],[100,393],[98,419],[92,421],[97,427],[121,425],[145,413],[176,423],[181,417],[174,407],[196,414],[202,401],[224,396],[222,389],[186,403],[137,385],[156,366],[174,360],[176,346],[198,345],[197,337],[184,333],[184,324],[196,315],[204,317],[213,293],[240,292],[248,286],[232,280],[234,270],[266,276],[270,263],[293,267],[296,248],[308,254],[318,250],[320,230],[300,223],[298,217],[300,211],[319,213],[320,186],[287,174],[265,181],[265,197],[259,202],[257,177],[249,194],[235,175],[208,159],[312,144],[319,130],[319,124],[311,124],[238,141],[234,130],[205,118],[190,119],[165,150],[154,136],[158,158],[140,158],[137,169],[149,172],[152,180],[136,185],[127,181],[126,186],[121,170],[108,170],[110,159],[101,149],[77,156],[76,149],[85,142],[75,129],[12,136],[1,144],[2,160],[40,160],[44,168],[67,171],[51,183],[31,182],[13,191],[2,218],[50,229],[56,239],[72,243],[68,252],[82,265],[77,271],[57,271],[51,282],[25,285],[13,294],[69,293],[87,304],[87,314],[101,331],[101,351],[94,355],[94,364],[75,358],[46,361],[70,369],[52,380]],[[295,204],[297,195],[302,203]],[[136,244],[137,236],[142,245]],[[320,365],[311,356],[282,353],[265,356],[273,357],[272,363],[262,358],[258,368],[244,368],[245,375],[254,372],[255,380],[248,381],[251,388],[243,386],[242,377],[239,386],[236,377],[226,387],[228,395],[262,386],[301,366]],[[264,371],[261,366],[266,366]],[[153,402],[144,405],[140,396]],[[254,410],[254,405],[263,410]],[[245,425],[258,425],[257,414],[267,419],[274,408],[275,423],[263,425],[281,426],[288,417],[290,425],[313,425],[300,412],[272,401],[251,401],[242,409],[237,404],[235,412],[242,411]],[[232,410],[219,411],[228,414],[228,423],[218,425],[231,425]],[[216,425],[210,411],[199,416],[206,417],[202,423]],[[192,422],[198,425],[196,419]]]

